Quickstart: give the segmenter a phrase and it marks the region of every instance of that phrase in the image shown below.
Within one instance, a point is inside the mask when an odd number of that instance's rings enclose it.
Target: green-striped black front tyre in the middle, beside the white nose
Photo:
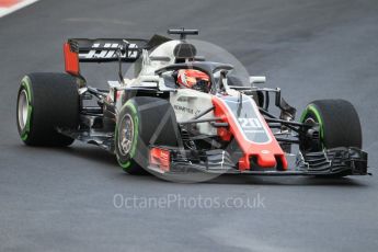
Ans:
[[[115,152],[122,169],[145,174],[151,146],[176,147],[179,128],[171,104],[158,98],[136,96],[122,107],[115,127]]]

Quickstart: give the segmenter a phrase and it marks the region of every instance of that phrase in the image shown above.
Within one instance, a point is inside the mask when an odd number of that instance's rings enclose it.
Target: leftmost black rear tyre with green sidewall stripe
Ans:
[[[76,78],[66,73],[35,72],[21,80],[16,122],[28,146],[69,146],[73,139],[57,127],[77,128],[79,94]]]

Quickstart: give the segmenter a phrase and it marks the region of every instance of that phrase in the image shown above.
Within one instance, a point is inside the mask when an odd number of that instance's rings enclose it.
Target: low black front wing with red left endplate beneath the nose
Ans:
[[[225,150],[182,151],[167,147],[151,147],[148,169],[159,173],[219,173],[249,175],[366,175],[367,153],[357,148],[333,148],[297,156],[293,169],[260,168],[251,162],[249,170],[240,170]]]

